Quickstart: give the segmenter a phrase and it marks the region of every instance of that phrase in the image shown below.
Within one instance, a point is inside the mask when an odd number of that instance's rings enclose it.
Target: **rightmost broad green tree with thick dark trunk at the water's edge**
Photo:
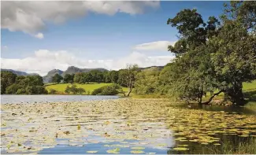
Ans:
[[[256,38],[236,20],[224,21],[219,35],[209,40],[217,87],[239,105],[246,103],[242,83],[256,79],[255,42]]]

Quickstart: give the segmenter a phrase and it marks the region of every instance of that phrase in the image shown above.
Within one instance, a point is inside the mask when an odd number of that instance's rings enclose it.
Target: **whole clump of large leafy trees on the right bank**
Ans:
[[[177,56],[169,67],[173,73],[169,74],[171,94],[208,104],[224,92],[233,103],[245,103],[242,83],[250,82],[256,75],[255,20],[252,19],[255,8],[251,5],[255,6],[255,2],[231,2],[221,23],[215,17],[204,23],[196,9],[184,9],[168,20],[180,33],[179,41],[169,46]],[[202,102],[207,92],[212,96]]]

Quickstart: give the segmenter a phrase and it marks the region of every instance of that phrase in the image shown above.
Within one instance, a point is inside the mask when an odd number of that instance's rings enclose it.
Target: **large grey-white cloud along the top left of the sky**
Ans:
[[[39,31],[46,28],[46,22],[61,24],[71,18],[86,16],[87,13],[133,15],[144,13],[147,8],[158,8],[159,4],[158,1],[6,1],[1,2],[1,26],[9,31],[23,31],[43,39]]]

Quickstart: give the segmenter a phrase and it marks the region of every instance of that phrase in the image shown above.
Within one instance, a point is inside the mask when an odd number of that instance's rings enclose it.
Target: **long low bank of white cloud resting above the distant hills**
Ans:
[[[126,57],[120,57],[115,60],[87,60],[69,53],[68,51],[50,51],[37,50],[31,57],[23,59],[1,58],[2,68],[9,68],[24,72],[35,72],[45,76],[47,72],[54,68],[61,70],[69,66],[79,68],[106,68],[117,70],[125,68],[126,64],[138,64],[139,67],[148,67],[152,65],[166,65],[174,56],[154,56],[148,57],[139,52],[132,52]]]

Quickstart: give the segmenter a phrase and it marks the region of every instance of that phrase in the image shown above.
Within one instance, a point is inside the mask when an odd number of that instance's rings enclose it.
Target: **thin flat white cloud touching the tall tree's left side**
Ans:
[[[169,42],[169,41],[157,41],[157,42],[148,42],[148,43],[143,43],[139,44],[137,46],[134,46],[134,50],[159,50],[159,51],[168,51],[168,46],[169,45],[174,45],[175,42]]]

